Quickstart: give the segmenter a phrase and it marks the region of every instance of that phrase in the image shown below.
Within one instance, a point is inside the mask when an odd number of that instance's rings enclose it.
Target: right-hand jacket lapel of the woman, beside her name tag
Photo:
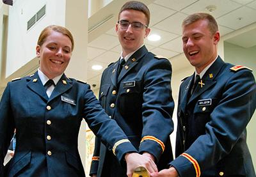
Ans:
[[[56,87],[52,91],[52,94],[49,98],[49,102],[51,102],[51,100],[53,100],[57,96],[60,96],[61,94],[65,93],[70,88],[72,88],[72,81],[70,81],[70,79],[68,79],[66,75],[63,73],[60,81],[57,83]]]

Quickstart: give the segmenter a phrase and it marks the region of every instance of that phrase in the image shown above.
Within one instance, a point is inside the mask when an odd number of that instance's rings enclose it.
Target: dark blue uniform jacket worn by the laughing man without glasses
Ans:
[[[255,176],[246,144],[256,106],[252,72],[218,57],[189,96],[193,75],[180,85],[177,158],[170,165],[186,177]]]

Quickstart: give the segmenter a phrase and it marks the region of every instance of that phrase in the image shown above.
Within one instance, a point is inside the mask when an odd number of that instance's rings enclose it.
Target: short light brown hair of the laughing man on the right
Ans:
[[[193,13],[188,17],[186,17],[186,19],[184,19],[182,22],[182,27],[188,26],[189,24],[193,24],[198,20],[208,21],[208,27],[212,35],[214,35],[214,33],[216,33],[217,31],[219,31],[218,24],[214,19],[214,17],[212,17],[212,15],[210,15],[209,13],[203,13],[203,12]]]

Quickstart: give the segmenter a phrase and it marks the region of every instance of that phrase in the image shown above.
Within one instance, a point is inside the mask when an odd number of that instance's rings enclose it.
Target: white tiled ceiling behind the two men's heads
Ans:
[[[206,6],[214,5],[216,10],[211,14],[216,18],[221,36],[241,29],[256,22],[256,0],[156,0],[149,4],[151,12],[150,34],[161,36],[161,40],[150,42],[145,40],[148,50],[157,55],[165,56],[172,62],[174,56],[182,54],[181,23],[188,14],[207,12]],[[120,7],[116,7],[120,8]],[[90,24],[89,24],[90,26]],[[96,84],[99,88],[101,73],[109,63],[116,61],[120,56],[121,47],[113,28],[88,43],[88,83]],[[243,47],[256,45],[256,29],[248,34],[239,35],[228,40],[230,43]],[[89,34],[90,35],[90,34]],[[174,61],[173,61],[174,62]],[[172,63],[173,64],[173,63]],[[178,65],[182,65],[179,63]],[[92,70],[92,65],[102,65],[100,71]],[[173,66],[173,72],[180,66]]]

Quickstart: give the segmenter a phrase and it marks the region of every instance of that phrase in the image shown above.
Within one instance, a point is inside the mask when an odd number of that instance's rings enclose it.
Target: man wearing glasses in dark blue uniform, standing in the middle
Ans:
[[[102,73],[99,100],[129,141],[161,170],[173,157],[172,66],[168,59],[148,52],[143,44],[150,33],[149,21],[150,12],[145,4],[129,1],[122,6],[115,28],[122,52],[118,61]],[[90,175],[126,176],[125,166],[125,162],[118,164],[112,151],[99,139],[95,140]]]

